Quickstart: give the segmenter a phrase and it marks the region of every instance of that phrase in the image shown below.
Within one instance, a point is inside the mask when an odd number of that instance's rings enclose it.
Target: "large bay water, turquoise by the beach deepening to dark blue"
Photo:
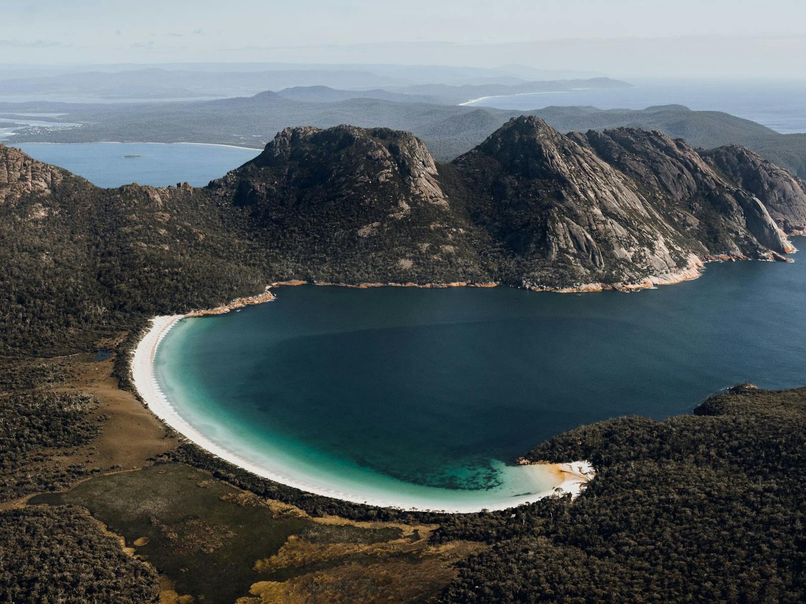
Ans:
[[[534,491],[513,461],[577,425],[806,383],[804,325],[802,262],[709,264],[632,294],[280,288],[181,321],[156,377],[189,424],[261,467],[448,508]]]

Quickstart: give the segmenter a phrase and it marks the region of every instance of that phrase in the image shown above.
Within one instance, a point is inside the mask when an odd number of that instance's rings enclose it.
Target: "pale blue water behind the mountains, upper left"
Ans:
[[[2,118],[0,118],[2,121]],[[99,187],[133,182],[203,187],[260,154],[260,149],[197,143],[14,143],[34,159],[84,176]]]

